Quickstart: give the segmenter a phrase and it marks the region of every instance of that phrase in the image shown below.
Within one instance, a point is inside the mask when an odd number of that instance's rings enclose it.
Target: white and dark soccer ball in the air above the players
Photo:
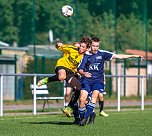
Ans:
[[[71,17],[73,15],[73,8],[69,5],[64,5],[61,8],[61,13],[65,17]]]

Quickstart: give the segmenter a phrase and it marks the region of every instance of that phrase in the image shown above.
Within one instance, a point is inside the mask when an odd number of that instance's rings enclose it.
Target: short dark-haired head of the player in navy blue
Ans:
[[[100,40],[97,37],[92,37],[91,40],[92,40],[92,44],[90,47],[90,51],[92,53],[97,53],[99,46],[100,46]]]

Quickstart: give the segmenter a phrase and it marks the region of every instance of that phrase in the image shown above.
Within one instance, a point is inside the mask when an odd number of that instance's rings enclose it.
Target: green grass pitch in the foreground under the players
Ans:
[[[61,115],[0,117],[1,136],[150,136],[152,111],[109,112],[97,114],[94,125],[73,125],[73,118]]]

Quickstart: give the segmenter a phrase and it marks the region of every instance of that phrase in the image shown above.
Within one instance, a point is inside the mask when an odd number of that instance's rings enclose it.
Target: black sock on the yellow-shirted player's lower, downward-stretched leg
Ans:
[[[77,100],[79,99],[80,96],[80,90],[76,90],[74,91],[74,93],[72,94],[71,100],[69,102],[69,105],[72,109],[74,107],[74,104],[77,102]]]

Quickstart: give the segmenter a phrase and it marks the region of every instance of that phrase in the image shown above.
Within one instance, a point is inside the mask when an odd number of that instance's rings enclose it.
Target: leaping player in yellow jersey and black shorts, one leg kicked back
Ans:
[[[90,36],[84,36],[80,40],[80,47],[75,47],[73,45],[64,45],[63,43],[57,43],[56,48],[64,53],[63,57],[57,61],[55,66],[56,75],[51,77],[46,77],[40,81],[38,81],[38,86],[43,84],[47,84],[48,82],[53,81],[63,81],[66,80],[73,89],[75,89],[75,93],[72,95],[71,101],[69,103],[69,107],[73,108],[74,104],[77,102],[80,94],[81,84],[79,80],[75,77],[76,69],[83,57],[83,54],[87,51],[87,49],[91,45]],[[67,109],[65,109],[67,110]],[[68,111],[63,112],[67,116],[71,116],[71,113]],[[69,109],[70,110],[70,109]]]

